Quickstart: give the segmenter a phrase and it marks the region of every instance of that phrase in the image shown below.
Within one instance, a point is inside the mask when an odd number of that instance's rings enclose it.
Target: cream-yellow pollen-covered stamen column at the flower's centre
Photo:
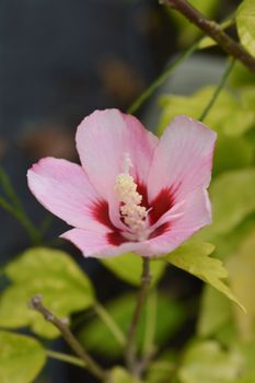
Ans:
[[[142,196],[137,192],[137,184],[130,174],[121,173],[116,177],[114,189],[117,194],[120,206],[120,213],[124,222],[130,231],[137,234],[138,240],[144,236],[147,227],[146,218],[148,211],[140,206]]]

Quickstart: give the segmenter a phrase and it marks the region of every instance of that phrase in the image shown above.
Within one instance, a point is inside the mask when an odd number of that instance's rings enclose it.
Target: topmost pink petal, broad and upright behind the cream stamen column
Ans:
[[[137,118],[117,109],[96,111],[78,127],[81,163],[97,193],[109,201],[111,219],[116,225],[119,225],[119,214],[114,184],[116,176],[125,171],[125,156],[134,164],[130,174],[147,184],[158,142]]]

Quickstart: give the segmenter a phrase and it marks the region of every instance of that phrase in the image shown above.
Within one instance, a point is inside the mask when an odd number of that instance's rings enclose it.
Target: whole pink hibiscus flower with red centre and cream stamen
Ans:
[[[159,256],[211,222],[215,141],[215,131],[185,116],[159,140],[130,115],[96,111],[78,127],[82,166],[42,159],[27,173],[28,186],[73,227],[61,237],[84,256]]]

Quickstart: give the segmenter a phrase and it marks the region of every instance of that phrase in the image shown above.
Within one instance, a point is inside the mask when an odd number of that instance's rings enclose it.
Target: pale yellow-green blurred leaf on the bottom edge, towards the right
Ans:
[[[240,352],[225,351],[216,341],[192,345],[178,371],[181,383],[236,383],[243,367]]]

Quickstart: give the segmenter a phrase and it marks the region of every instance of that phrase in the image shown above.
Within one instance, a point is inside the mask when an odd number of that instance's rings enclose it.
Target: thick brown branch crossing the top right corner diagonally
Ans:
[[[206,0],[205,0],[206,1]],[[215,21],[206,18],[186,0],[159,0],[160,4],[170,5],[182,13],[193,24],[210,36],[228,55],[242,61],[255,72],[255,58],[241,44],[231,38]]]

